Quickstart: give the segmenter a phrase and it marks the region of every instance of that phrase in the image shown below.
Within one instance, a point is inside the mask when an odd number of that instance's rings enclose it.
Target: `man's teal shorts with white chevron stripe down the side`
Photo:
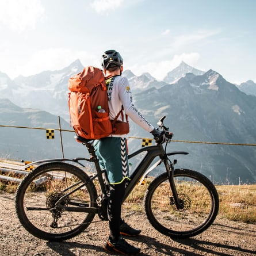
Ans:
[[[129,179],[127,140],[121,137],[105,137],[95,140],[94,148],[101,170],[106,170],[110,184],[120,184]]]

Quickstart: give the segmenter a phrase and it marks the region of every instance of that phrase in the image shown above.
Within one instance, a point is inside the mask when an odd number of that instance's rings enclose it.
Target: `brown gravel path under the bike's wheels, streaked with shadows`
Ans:
[[[21,226],[14,210],[14,197],[15,194],[0,193],[1,256],[110,255],[102,248],[108,236],[106,221],[90,224],[88,231],[66,242],[47,242],[30,235]],[[201,235],[172,240],[154,230],[143,213],[124,212],[123,215],[131,226],[142,229],[142,235],[127,238],[129,243],[141,248],[139,255],[256,255],[255,224],[217,217],[215,223]]]

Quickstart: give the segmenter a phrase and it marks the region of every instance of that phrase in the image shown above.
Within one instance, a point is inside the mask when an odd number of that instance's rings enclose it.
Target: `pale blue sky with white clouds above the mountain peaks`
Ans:
[[[117,49],[136,75],[163,79],[184,60],[256,82],[255,10],[254,0],[1,0],[0,71],[28,76],[76,59],[100,67]]]

